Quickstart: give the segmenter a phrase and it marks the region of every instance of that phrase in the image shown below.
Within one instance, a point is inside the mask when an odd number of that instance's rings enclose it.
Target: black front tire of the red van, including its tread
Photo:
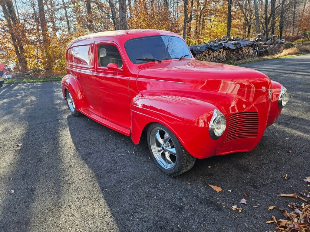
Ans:
[[[151,143],[154,144],[154,142],[151,142],[154,140],[154,138],[153,138],[154,130],[157,131],[158,128],[161,128],[164,132],[166,132],[170,136],[170,140],[172,141],[172,143],[171,143],[171,147],[169,147],[169,148],[175,148],[176,158],[175,158],[174,167],[172,167],[171,169],[165,168],[163,165],[160,164],[159,161],[157,161],[158,153],[154,155],[154,152],[153,152],[152,147],[151,147]],[[196,158],[193,157],[191,154],[189,154],[185,150],[185,148],[182,146],[182,144],[177,139],[177,137],[172,133],[172,131],[170,131],[164,125],[162,125],[160,123],[152,123],[148,127],[147,140],[148,140],[148,148],[151,152],[151,156],[152,156],[153,160],[155,161],[156,165],[166,174],[171,175],[171,176],[180,175],[180,174],[188,171],[189,169],[191,169],[193,167],[193,165],[195,164]],[[156,143],[156,140],[155,140],[155,143]],[[158,142],[158,144],[160,144],[160,143]],[[169,144],[169,146],[170,146],[170,144]],[[157,147],[158,147],[158,145],[157,145]],[[165,155],[163,155],[163,156],[165,156]]]

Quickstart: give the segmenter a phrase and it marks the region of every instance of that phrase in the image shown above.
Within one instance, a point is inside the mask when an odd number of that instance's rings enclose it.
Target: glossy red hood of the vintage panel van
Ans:
[[[227,93],[250,101],[253,101],[255,92],[268,92],[271,89],[268,76],[244,67],[188,59],[144,66],[140,66],[142,70],[138,79],[166,81],[166,85],[154,85],[154,88],[170,86],[168,82],[183,83],[178,88]]]

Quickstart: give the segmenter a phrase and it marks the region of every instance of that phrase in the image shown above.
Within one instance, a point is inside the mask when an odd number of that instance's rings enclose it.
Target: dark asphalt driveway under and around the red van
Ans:
[[[283,216],[268,206],[302,203],[276,195],[310,189],[302,180],[310,175],[310,55],[242,66],[281,82],[294,97],[253,151],[197,160],[178,177],[156,167],[145,135],[135,145],[73,117],[59,82],[4,85],[0,231],[272,230],[265,222]],[[241,213],[231,210],[242,198]]]

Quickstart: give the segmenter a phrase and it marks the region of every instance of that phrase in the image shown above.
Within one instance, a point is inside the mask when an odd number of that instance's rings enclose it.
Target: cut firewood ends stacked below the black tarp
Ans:
[[[239,49],[227,49],[222,47],[218,50],[206,49],[201,54],[197,55],[196,60],[209,62],[225,62],[228,60],[240,60],[253,56],[250,45]]]

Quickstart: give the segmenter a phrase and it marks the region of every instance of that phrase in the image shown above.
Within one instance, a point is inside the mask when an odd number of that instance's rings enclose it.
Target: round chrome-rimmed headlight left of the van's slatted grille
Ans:
[[[212,139],[217,140],[224,134],[226,129],[226,118],[219,110],[214,110],[209,124],[209,134]]]

